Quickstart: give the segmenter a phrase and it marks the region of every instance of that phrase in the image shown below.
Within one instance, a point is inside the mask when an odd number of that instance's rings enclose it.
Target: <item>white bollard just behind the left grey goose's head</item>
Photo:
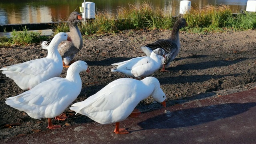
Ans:
[[[94,2],[85,2],[85,5],[83,2],[82,8],[84,9],[82,12],[83,20],[95,18],[95,3]]]

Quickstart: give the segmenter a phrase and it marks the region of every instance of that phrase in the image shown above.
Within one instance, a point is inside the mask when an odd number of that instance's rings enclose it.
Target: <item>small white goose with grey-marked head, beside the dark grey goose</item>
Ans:
[[[111,69],[111,72],[121,72],[134,78],[149,76],[160,68],[162,55],[164,55],[164,50],[157,48],[153,50],[150,57],[142,56],[111,64],[115,65],[115,67]]]

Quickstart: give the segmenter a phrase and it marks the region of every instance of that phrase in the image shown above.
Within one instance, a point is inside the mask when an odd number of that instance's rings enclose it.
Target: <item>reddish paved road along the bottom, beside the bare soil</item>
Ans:
[[[142,113],[120,123],[130,134],[112,134],[114,124],[89,122],[13,137],[7,144],[256,144],[256,90],[193,100]]]

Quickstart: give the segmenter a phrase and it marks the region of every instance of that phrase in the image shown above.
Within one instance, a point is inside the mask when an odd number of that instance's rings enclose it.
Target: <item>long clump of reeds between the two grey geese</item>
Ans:
[[[130,4],[129,9],[120,7],[117,15],[107,11],[98,11],[95,20],[79,24],[82,34],[115,33],[121,30],[170,29],[175,20],[170,13],[165,13],[160,8],[154,8],[151,4],[143,2],[140,5]],[[65,28],[59,28],[65,27]],[[56,32],[66,32],[66,23],[56,25]]]

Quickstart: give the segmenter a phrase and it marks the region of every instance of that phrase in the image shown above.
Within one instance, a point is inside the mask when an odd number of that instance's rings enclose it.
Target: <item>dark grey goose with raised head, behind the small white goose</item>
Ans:
[[[141,47],[142,51],[147,56],[150,56],[151,52],[157,48],[164,49],[165,58],[162,58],[163,66],[161,72],[168,72],[168,70],[165,70],[165,65],[169,66],[170,62],[172,62],[172,60],[174,60],[174,58],[180,52],[179,30],[185,26],[188,26],[186,20],[184,18],[179,18],[172,28],[170,38],[157,40],[152,44],[147,44],[146,46]]]

